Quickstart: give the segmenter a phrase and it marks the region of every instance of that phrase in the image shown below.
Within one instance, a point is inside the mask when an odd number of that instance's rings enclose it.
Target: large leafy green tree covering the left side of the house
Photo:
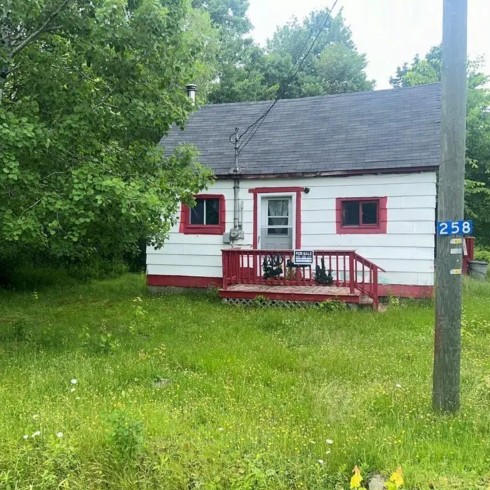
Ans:
[[[183,86],[213,76],[209,18],[185,0],[5,0],[0,36],[0,254],[161,245],[210,177],[157,146],[192,109]]]

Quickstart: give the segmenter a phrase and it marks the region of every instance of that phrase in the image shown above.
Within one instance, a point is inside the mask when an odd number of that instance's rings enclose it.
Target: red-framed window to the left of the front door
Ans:
[[[225,231],[225,198],[223,195],[195,196],[192,208],[182,205],[180,232],[184,234],[221,235]]]

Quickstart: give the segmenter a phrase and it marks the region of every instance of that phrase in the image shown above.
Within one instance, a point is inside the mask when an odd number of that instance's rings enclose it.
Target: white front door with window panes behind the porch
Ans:
[[[293,223],[291,196],[263,197],[259,247],[266,250],[292,249]]]

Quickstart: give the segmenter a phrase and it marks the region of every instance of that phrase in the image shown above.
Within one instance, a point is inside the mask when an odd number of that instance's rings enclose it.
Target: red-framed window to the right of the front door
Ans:
[[[337,233],[386,233],[386,197],[337,199]]]

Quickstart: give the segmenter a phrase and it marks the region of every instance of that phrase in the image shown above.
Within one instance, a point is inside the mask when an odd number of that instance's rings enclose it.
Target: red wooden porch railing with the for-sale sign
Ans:
[[[378,272],[383,269],[353,250],[315,250],[313,264],[295,266],[293,250],[222,251],[223,289],[234,284],[332,285],[372,298],[378,305]]]

